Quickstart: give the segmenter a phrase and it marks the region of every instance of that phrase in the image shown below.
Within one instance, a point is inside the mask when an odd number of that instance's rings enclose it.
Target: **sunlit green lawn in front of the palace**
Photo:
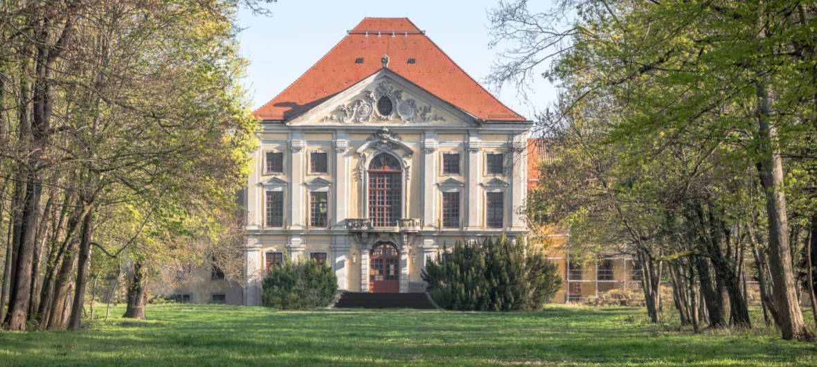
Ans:
[[[116,307],[111,315],[122,312]],[[79,332],[0,332],[0,365],[817,365],[814,344],[781,340],[771,329],[695,335],[672,320],[650,324],[643,309],[625,307],[490,313],[150,305],[148,317],[94,320]]]

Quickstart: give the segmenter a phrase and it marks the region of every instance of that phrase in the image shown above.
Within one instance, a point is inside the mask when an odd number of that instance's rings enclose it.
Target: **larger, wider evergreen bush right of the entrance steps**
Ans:
[[[422,279],[437,305],[464,311],[540,310],[561,284],[542,252],[505,236],[454,245],[426,265]]]

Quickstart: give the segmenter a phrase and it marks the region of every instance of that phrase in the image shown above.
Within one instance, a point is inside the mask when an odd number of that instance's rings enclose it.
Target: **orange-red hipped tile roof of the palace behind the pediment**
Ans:
[[[301,114],[382,69],[383,55],[389,56],[391,71],[479,119],[526,120],[454,64],[408,18],[365,18],[301,78],[254,114],[273,120]],[[364,62],[355,64],[359,57]],[[408,64],[409,58],[416,63]]]

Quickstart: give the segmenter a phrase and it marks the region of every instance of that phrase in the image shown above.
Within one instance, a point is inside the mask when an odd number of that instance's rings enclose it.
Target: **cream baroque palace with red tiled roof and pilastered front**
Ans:
[[[530,121],[408,19],[364,19],[255,114],[245,305],[284,257],[327,262],[339,289],[422,292],[446,245],[526,233]]]

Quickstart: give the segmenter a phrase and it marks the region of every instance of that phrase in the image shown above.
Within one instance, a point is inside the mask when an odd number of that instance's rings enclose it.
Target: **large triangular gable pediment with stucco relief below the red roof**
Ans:
[[[477,119],[391,70],[381,69],[288,124],[471,127]]]

